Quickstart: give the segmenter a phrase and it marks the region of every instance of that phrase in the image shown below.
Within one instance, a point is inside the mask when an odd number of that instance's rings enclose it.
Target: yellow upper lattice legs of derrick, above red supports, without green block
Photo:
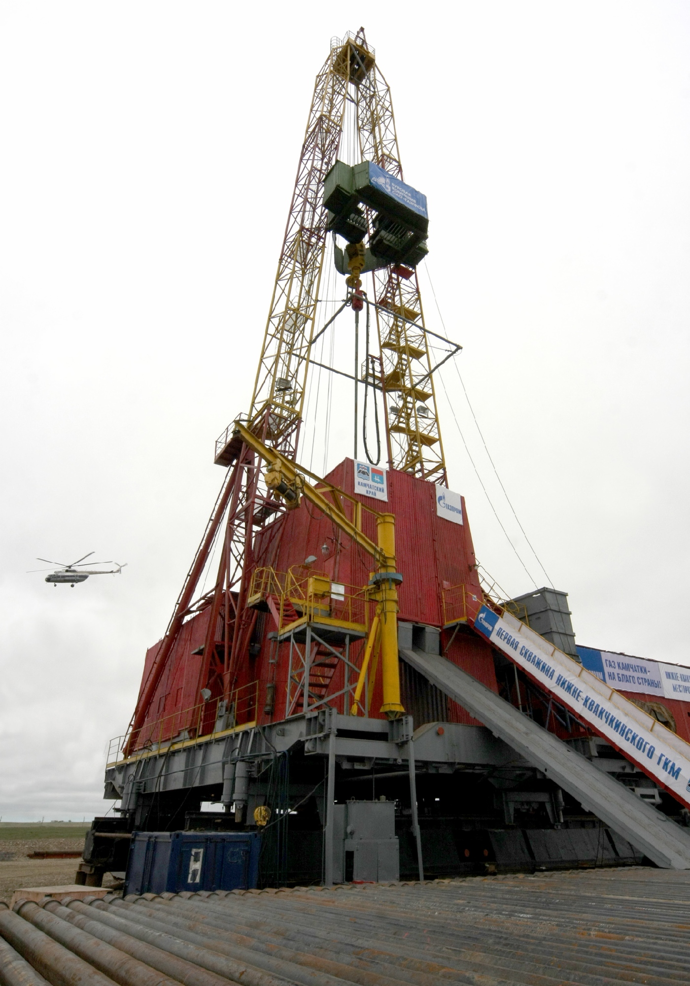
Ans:
[[[402,179],[390,89],[362,29],[355,36],[331,42],[316,76],[248,415],[250,430],[289,458],[297,455],[327,242],[322,181],[338,156],[348,100],[355,104],[361,160],[373,161]],[[349,246],[348,253],[354,256],[358,246]],[[360,259],[363,263],[363,256]],[[354,264],[358,269],[350,263],[348,283],[359,277],[361,264],[356,257]],[[385,413],[388,464],[445,483],[446,463],[416,273],[390,265],[376,271],[373,278],[384,387],[394,408],[387,407]]]

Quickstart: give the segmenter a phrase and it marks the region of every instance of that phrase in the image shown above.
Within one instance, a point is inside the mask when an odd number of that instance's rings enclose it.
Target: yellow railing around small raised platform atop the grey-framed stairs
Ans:
[[[251,577],[247,604],[255,605],[259,601],[268,602],[269,608],[275,607],[280,633],[294,624],[319,621],[369,629],[367,587],[333,582],[324,572],[306,569],[304,565],[287,572],[257,568]]]

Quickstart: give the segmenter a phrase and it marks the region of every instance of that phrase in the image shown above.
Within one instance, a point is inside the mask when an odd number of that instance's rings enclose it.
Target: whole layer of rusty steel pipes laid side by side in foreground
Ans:
[[[51,982],[661,986],[690,982],[689,902],[690,872],[640,867],[108,895],[0,909],[0,935]]]

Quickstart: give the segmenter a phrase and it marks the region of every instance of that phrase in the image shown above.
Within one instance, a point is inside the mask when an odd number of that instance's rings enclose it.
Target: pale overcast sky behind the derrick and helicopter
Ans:
[[[429,199],[428,324],[464,347],[457,370],[578,641],[690,665],[690,5],[352,16],[2,3],[5,820],[109,806],[107,741],[222,481],[214,440],[250,397],[313,79],[360,23]],[[452,364],[442,377],[477,555],[511,595],[541,586]],[[352,455],[336,398],[318,470]],[[128,567],[74,590],[26,574],[92,550]]]

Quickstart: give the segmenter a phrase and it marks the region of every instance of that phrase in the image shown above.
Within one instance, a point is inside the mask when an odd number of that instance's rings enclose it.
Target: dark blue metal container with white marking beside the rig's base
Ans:
[[[259,832],[134,832],[124,892],[250,889],[260,848]]]

